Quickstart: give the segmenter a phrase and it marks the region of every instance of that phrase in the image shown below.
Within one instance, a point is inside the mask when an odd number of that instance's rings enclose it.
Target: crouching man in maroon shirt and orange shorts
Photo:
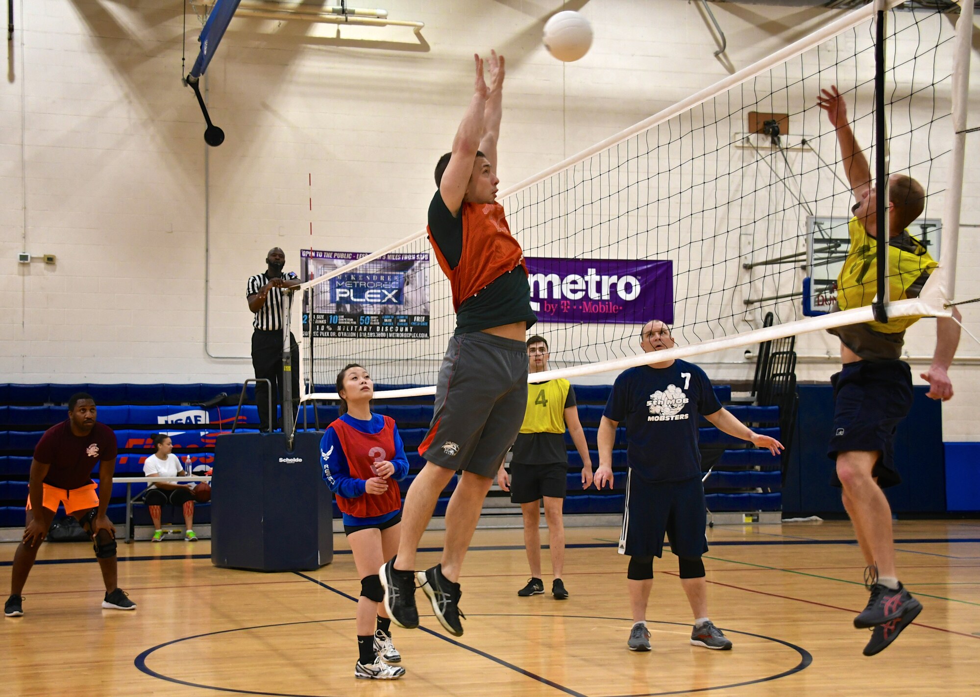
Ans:
[[[92,537],[99,560],[107,610],[135,610],[136,604],[116,584],[116,528],[106,516],[113,495],[116,470],[116,434],[95,421],[95,401],[84,392],[74,394],[68,403],[68,420],[53,425],[34,447],[30,463],[27,494],[27,525],[24,539],[14,554],[10,597],[4,605],[9,618],[24,615],[21,591],[34,566],[37,550],[51,527],[58,506],[73,516]],[[92,470],[99,466],[101,490],[96,494]]]

